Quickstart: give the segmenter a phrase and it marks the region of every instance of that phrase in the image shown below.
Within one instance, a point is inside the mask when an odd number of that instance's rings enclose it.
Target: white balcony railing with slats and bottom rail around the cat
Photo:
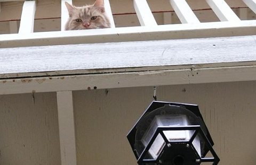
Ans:
[[[10,0],[0,0],[0,2],[7,1]],[[72,0],[62,0],[61,31],[36,33],[33,33],[36,1],[25,1],[21,14],[22,16],[19,33],[1,34],[0,47],[4,48],[82,43],[85,44],[95,42],[225,37],[255,34],[256,20],[241,21],[224,0],[205,1],[218,16],[220,22],[200,23],[185,0],[170,0],[170,4],[172,5],[175,13],[177,13],[181,24],[157,25],[147,1],[134,0],[134,9],[137,13],[141,27],[115,28],[109,1],[105,0],[105,8],[110,18],[111,28],[82,31],[63,31],[65,23],[68,19],[68,11],[66,10],[64,3],[72,3]],[[255,0],[243,1],[248,7],[251,8],[252,11],[256,11]],[[211,30],[213,32],[209,33]]]

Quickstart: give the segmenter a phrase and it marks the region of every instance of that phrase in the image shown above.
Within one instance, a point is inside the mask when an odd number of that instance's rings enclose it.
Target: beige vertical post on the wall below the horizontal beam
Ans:
[[[72,91],[57,92],[61,165],[76,164]]]

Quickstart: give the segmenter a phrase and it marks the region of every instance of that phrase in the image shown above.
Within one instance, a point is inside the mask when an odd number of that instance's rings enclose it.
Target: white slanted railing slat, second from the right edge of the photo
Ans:
[[[220,21],[240,21],[224,0],[206,0]]]

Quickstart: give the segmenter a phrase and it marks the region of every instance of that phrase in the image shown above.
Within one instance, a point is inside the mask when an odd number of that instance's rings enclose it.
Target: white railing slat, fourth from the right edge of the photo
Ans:
[[[146,0],[133,0],[133,5],[142,26],[157,25]]]

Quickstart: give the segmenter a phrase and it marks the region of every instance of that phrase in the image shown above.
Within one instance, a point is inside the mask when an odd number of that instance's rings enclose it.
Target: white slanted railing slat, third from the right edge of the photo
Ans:
[[[170,0],[170,3],[181,23],[200,23],[186,0]]]

